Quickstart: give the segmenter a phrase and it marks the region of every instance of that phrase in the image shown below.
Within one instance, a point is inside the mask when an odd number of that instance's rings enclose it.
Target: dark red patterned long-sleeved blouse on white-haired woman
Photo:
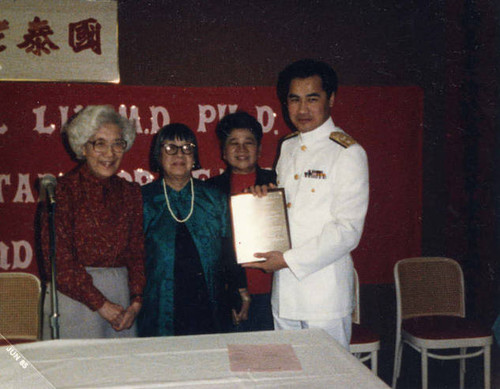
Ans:
[[[100,180],[84,164],[58,179],[56,197],[58,290],[95,311],[106,298],[85,266],[126,266],[130,302],[142,302],[145,276],[139,185],[117,176]],[[43,222],[44,267],[50,275],[47,230]]]

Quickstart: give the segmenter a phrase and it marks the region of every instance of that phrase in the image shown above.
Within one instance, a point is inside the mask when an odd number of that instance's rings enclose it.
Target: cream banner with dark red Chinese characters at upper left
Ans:
[[[3,0],[0,79],[119,82],[116,1]]]

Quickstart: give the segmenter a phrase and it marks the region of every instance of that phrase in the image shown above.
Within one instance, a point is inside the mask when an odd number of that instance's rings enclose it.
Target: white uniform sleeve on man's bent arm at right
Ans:
[[[284,253],[288,267],[299,280],[349,255],[363,232],[369,197],[368,161],[363,148],[356,144],[343,150],[332,172],[332,201],[325,209],[331,220],[319,235]]]

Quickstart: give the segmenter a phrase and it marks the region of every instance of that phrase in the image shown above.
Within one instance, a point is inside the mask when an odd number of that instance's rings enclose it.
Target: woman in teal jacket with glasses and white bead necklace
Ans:
[[[139,335],[222,332],[230,318],[225,288],[246,287],[232,254],[227,199],[191,177],[199,162],[187,126],[163,127],[152,154],[161,177],[142,191],[146,287]]]

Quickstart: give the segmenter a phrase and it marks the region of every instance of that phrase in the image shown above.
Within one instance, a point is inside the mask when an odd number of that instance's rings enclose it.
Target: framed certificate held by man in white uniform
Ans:
[[[251,193],[230,198],[234,248],[238,263],[263,261],[257,252],[284,252],[291,247],[285,190],[269,189],[267,196]]]

